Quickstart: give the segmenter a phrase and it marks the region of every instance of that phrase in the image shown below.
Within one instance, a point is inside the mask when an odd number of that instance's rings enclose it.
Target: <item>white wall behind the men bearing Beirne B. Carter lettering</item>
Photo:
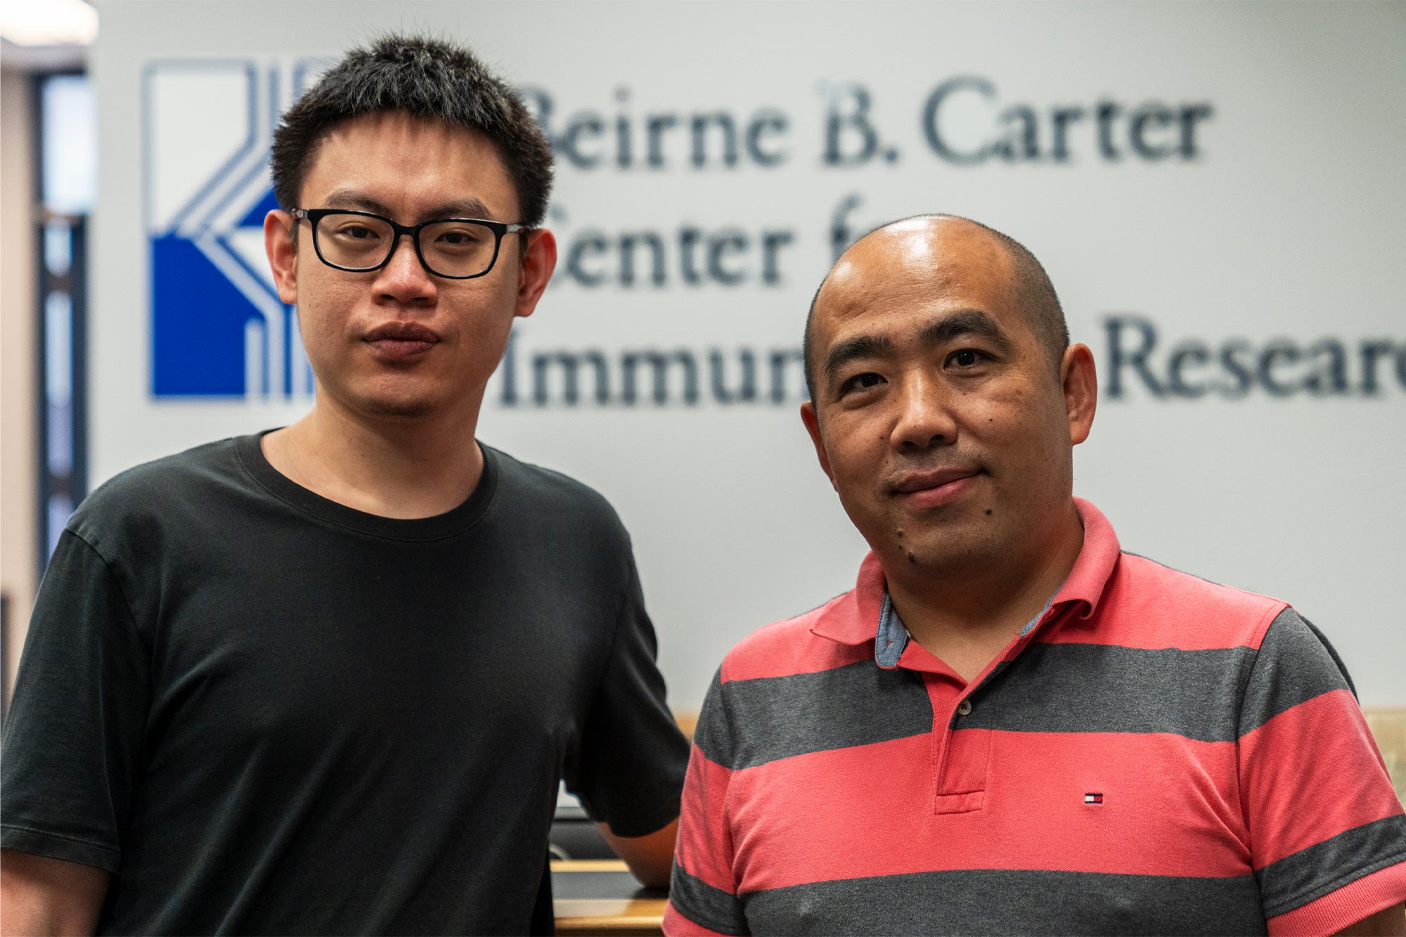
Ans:
[[[427,28],[550,96],[554,134],[572,115],[599,115],[602,132],[586,124],[576,152],[585,162],[602,153],[600,165],[558,163],[553,224],[564,249],[589,245],[591,229],[676,239],[683,225],[735,228],[754,246],[763,231],[792,235],[776,252],[775,281],[749,253],[738,286],[683,281],[671,250],[664,286],[589,287],[591,272],[619,280],[619,269],[588,248],[578,255],[586,276],[562,269],[517,335],[517,405],[502,404],[503,378],[489,388],[482,439],[593,484],[624,516],[675,706],[699,703],[742,635],[849,588],[863,553],[814,466],[796,416],[797,376],[782,404],[765,400],[766,355],[799,345],[837,210],[851,196],[858,203],[841,214],[853,234],[950,211],[1025,242],[1102,370],[1077,492],[1108,514],[1125,549],[1291,599],[1334,640],[1364,703],[1406,703],[1395,588],[1406,568],[1406,7],[129,0],[101,4],[101,15],[94,481],[307,407],[277,388],[247,400],[152,394],[152,255],[139,219],[146,207],[146,235],[160,234],[180,196],[243,139],[239,63],[259,76],[264,114],[291,94],[301,59],[335,56],[377,30]],[[173,72],[173,60],[214,59],[235,65],[217,62],[204,77]],[[159,73],[148,79],[156,103],[145,117],[143,69]],[[962,76],[986,84],[943,98],[938,131],[949,149],[974,152],[1000,110],[1028,104],[1040,159],[963,165],[934,151],[925,107]],[[827,165],[828,103],[852,113],[855,84],[870,97],[876,158]],[[1118,108],[1107,124],[1116,158],[1099,139],[1105,101]],[[1067,156],[1056,159],[1052,108],[1070,106],[1084,117],[1066,121]],[[640,165],[648,114],[686,125],[718,110],[761,120],[761,148],[783,153],[778,165],[693,167],[679,132],[662,138],[665,167]],[[766,124],[772,111],[785,114],[785,131]],[[1135,114],[1146,114],[1150,156],[1133,146]],[[636,134],[628,169],[613,144],[621,117]],[[855,152],[863,135],[845,127]],[[159,166],[152,176],[143,156]],[[229,225],[254,189],[235,186],[209,224]],[[221,250],[238,253],[243,236],[231,228]],[[1126,317],[1125,355],[1142,340],[1137,322],[1156,331],[1147,363],[1159,385],[1171,383],[1174,348],[1191,343],[1180,356],[1184,393],[1159,398],[1133,367],[1115,367],[1111,317]],[[1322,339],[1337,345],[1316,346]],[[1389,350],[1364,350],[1372,342]],[[1219,363],[1227,343],[1234,362],[1263,367],[1268,381],[1251,376],[1239,394],[1237,371]],[[761,356],[763,400],[716,402],[709,352],[740,348]],[[1334,348],[1346,355],[1341,384]],[[612,402],[567,407],[555,384],[553,402],[534,405],[531,355],[558,349],[600,350]],[[702,401],[621,404],[619,356],[640,349],[693,352]],[[1375,356],[1375,390],[1364,390],[1364,355]],[[1115,378],[1121,397],[1108,393]],[[1285,381],[1296,390],[1275,395]],[[1202,387],[1212,390],[1195,395]],[[582,397],[591,388],[583,381]]]

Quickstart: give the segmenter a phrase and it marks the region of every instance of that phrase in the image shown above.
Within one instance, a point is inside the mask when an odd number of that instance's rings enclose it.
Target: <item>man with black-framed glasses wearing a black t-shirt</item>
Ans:
[[[464,49],[388,37],[273,176],[316,402],[69,522],[4,736],[6,931],[550,930],[558,778],[665,882],[688,748],[628,536],[474,439],[555,264],[546,139]]]

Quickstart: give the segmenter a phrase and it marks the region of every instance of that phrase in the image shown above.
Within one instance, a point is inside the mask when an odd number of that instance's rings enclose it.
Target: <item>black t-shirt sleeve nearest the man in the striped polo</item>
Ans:
[[[679,815],[689,748],[665,702],[654,625],[633,560],[628,567],[610,657],[565,781],[612,833],[647,836]]]

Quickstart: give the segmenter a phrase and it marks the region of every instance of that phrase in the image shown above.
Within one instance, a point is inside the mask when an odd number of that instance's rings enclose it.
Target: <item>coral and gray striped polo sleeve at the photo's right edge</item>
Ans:
[[[1336,931],[1406,898],[1402,805],[1347,671],[1294,609],[1249,673],[1237,757],[1271,934]]]

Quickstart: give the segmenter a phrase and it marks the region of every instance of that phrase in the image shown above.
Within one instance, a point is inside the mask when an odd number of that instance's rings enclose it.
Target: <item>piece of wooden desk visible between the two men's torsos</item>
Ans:
[[[551,862],[558,934],[662,934],[668,893],[644,888],[620,860]]]

